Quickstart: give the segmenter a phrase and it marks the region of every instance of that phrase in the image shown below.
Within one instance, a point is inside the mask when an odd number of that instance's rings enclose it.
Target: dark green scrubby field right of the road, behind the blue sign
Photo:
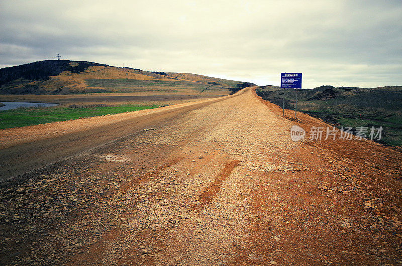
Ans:
[[[260,87],[257,94],[282,107],[283,89]],[[286,89],[285,108],[294,110],[295,90]],[[298,92],[297,110],[344,126],[382,126],[379,143],[402,146],[402,87],[350,88],[322,86]]]

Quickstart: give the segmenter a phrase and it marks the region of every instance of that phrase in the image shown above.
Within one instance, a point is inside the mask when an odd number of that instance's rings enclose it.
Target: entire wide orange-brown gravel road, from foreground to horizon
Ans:
[[[0,263],[402,263],[400,152],[252,87],[163,108],[0,130]]]

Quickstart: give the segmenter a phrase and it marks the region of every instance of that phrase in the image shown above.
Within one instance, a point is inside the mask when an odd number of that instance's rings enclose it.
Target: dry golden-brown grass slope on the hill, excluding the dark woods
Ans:
[[[90,92],[91,90],[97,90],[96,92],[98,92],[104,90],[105,92],[116,91],[120,93],[128,91],[137,93],[138,95],[147,95],[147,93],[153,95],[196,95],[202,91],[203,94],[209,95],[228,95],[230,91],[225,87],[236,84],[236,81],[221,80],[221,86],[214,86],[213,89],[203,91],[203,89],[211,85],[207,82],[218,82],[220,79],[184,73],[169,73],[169,76],[165,77],[134,69],[91,66],[82,73],[64,71],[57,76],[51,76],[49,80],[33,81],[30,85],[38,85],[48,91],[59,89],[63,91],[62,93]],[[115,87],[103,84],[93,86],[90,83],[88,84],[88,80],[110,80],[117,84]],[[132,85],[120,87],[120,82],[130,80],[133,81]],[[149,85],[146,84],[147,82]],[[23,87],[25,84],[21,84],[20,86]]]

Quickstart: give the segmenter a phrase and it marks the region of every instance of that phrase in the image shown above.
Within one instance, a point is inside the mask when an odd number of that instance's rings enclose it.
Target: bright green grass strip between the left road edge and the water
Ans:
[[[78,119],[80,117],[92,117],[105,114],[138,111],[157,108],[160,105],[70,105],[39,108],[18,108],[0,111],[0,129],[35,125],[56,121]]]

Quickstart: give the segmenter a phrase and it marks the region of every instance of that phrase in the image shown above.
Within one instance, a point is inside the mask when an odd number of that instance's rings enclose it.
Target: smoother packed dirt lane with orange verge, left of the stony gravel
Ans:
[[[0,149],[3,149],[0,162],[3,167],[0,169],[0,181],[15,177],[21,179],[22,174],[32,170],[81,156],[94,148],[141,132],[148,125],[231,97],[126,112],[110,118],[97,116],[1,130]]]

